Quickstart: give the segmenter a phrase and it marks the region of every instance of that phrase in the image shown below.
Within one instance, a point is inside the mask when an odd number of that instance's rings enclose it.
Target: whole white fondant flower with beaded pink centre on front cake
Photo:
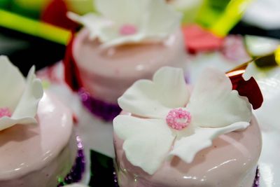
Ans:
[[[134,116],[117,116],[114,131],[124,140],[127,159],[148,174],[174,155],[192,162],[213,139],[244,130],[251,120],[248,99],[215,69],[204,71],[190,93],[181,69],[163,67],[153,81],[135,82],[118,104]]]

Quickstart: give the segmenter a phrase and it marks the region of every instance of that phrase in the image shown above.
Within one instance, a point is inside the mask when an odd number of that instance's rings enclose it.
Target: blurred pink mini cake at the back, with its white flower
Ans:
[[[69,65],[66,58],[66,82],[73,90],[80,90],[87,109],[112,120],[120,113],[118,97],[132,83],[152,78],[163,66],[186,69],[181,15],[163,0],[125,3],[97,0],[95,4],[100,17],[93,13],[83,16],[69,13],[69,18],[85,28],[69,45],[68,56],[74,65]],[[78,82],[76,88],[73,76]]]

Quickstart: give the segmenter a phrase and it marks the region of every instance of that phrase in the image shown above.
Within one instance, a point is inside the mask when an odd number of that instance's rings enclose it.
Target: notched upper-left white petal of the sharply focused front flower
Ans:
[[[165,118],[176,107],[186,106],[188,102],[183,70],[162,67],[153,76],[153,82],[135,82],[118,99],[124,111],[148,118]]]

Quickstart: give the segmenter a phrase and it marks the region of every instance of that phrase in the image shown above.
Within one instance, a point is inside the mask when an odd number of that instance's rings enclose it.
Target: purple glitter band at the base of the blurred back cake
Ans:
[[[83,88],[78,90],[78,95],[80,96],[80,100],[83,102],[85,108],[90,111],[90,113],[102,118],[103,120],[111,121],[113,118],[118,116],[120,111],[122,111],[118,104],[112,104],[95,99],[94,97],[90,96],[90,93],[85,91]]]

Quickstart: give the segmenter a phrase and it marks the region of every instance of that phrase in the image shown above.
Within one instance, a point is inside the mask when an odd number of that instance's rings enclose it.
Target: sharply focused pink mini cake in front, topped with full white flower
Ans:
[[[262,139],[247,97],[215,69],[189,90],[181,69],[164,67],[118,99],[120,187],[258,186]]]

